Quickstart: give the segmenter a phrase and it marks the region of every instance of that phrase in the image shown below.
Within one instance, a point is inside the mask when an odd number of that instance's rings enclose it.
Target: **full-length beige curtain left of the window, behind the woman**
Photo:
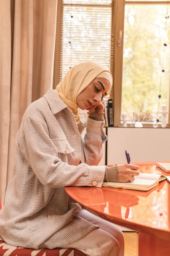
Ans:
[[[0,0],[0,198],[31,102],[52,87],[57,0]]]

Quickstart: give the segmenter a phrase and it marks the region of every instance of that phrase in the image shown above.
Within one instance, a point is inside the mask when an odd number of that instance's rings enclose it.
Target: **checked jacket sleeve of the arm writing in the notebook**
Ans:
[[[97,121],[92,120],[92,122]],[[96,127],[96,131],[98,130],[101,134],[101,126],[100,129]],[[86,163],[75,166],[62,162],[58,158],[57,146],[50,139],[45,121],[27,117],[24,120],[23,133],[24,139],[19,141],[20,149],[43,185],[51,188],[94,186],[94,184],[96,187],[102,186],[106,166],[89,166]],[[101,147],[101,139],[100,144]],[[95,151],[95,154],[99,152]],[[93,183],[93,181],[95,182]]]

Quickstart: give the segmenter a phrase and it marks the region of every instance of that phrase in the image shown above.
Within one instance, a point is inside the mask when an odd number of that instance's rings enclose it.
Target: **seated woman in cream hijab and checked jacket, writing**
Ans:
[[[134,180],[138,166],[97,166],[103,154],[103,97],[112,76],[94,62],[68,71],[25,111],[16,138],[16,162],[0,212],[0,239],[28,248],[79,248],[88,255],[124,254],[122,232],[74,203],[64,186],[101,187]],[[78,107],[89,110],[87,133]],[[100,228],[99,228],[100,227]]]

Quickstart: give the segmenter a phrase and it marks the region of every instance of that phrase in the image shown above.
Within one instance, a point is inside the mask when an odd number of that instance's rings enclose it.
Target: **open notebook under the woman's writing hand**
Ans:
[[[148,191],[149,189],[157,186],[160,181],[167,179],[170,181],[170,176],[166,177],[161,174],[149,174],[149,173],[139,173],[134,181],[129,182],[103,182],[103,187],[113,187],[113,188],[125,188],[125,189],[135,189]]]

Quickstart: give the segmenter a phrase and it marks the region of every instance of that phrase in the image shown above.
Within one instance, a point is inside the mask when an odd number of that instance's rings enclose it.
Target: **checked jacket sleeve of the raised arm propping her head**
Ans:
[[[96,121],[90,117],[87,118],[83,148],[85,154],[85,162],[88,165],[98,165],[102,159],[104,152],[103,143],[107,139],[103,129],[104,124],[104,118],[102,121]]]

